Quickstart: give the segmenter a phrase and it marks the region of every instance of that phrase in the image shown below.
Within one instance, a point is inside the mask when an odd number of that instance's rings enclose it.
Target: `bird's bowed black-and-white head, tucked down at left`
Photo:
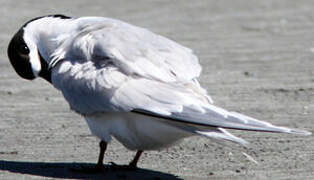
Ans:
[[[49,45],[52,43],[49,41],[53,19],[70,19],[70,17],[49,15],[34,18],[26,22],[11,39],[7,51],[8,57],[16,73],[22,78],[33,80],[39,76],[51,82],[48,51],[52,46]]]

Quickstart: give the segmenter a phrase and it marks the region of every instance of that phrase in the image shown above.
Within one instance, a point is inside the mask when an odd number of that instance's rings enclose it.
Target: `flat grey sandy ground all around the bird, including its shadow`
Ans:
[[[193,137],[144,153],[135,172],[72,172],[96,162],[98,140],[57,90],[22,80],[6,56],[12,35],[33,17],[118,18],[194,49],[201,84],[217,105],[313,131],[313,9],[314,1],[301,0],[1,0],[0,179],[314,179],[313,136],[239,131],[251,142],[247,150]],[[105,160],[126,164],[133,155],[113,141]]]

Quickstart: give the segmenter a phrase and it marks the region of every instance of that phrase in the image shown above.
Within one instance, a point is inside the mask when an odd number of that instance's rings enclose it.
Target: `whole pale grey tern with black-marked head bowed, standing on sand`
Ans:
[[[136,151],[160,150],[191,136],[247,141],[228,129],[310,135],[214,105],[198,78],[194,52],[169,38],[107,17],[53,14],[27,21],[8,45],[16,73],[41,77],[100,139],[95,169],[104,167],[112,137]]]

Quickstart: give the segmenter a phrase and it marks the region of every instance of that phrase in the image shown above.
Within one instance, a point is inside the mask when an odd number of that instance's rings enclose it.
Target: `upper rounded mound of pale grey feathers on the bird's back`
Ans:
[[[77,32],[53,55],[55,61],[107,60],[127,75],[165,82],[190,81],[200,75],[197,56],[170,39],[109,18],[78,21]]]

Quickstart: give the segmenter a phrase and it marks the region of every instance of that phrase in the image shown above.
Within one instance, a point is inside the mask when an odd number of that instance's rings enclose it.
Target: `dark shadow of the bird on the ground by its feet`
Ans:
[[[101,173],[80,173],[73,168],[92,167],[90,163],[48,163],[48,162],[21,162],[0,160],[0,170],[12,173],[27,174],[58,179],[180,179],[175,175],[149,169],[138,168],[135,171],[111,170],[106,165],[106,171]]]

